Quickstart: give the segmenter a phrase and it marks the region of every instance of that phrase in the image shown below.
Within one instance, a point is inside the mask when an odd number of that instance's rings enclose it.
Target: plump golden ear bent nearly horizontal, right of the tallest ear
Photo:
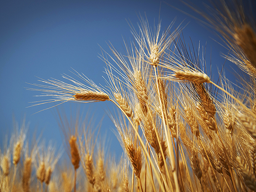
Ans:
[[[193,81],[197,83],[210,82],[210,77],[205,73],[194,72],[194,71],[176,71],[174,76],[180,80]]]

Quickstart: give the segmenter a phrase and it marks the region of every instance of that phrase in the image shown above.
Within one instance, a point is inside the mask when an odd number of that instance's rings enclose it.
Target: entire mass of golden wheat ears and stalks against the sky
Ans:
[[[256,191],[256,26],[233,3],[200,14],[222,36],[224,57],[240,67],[238,83],[223,69],[214,83],[182,28],[172,32],[171,23],[161,32],[159,22],[152,30],[140,17],[138,30],[130,25],[134,41],[125,56],[112,45],[112,54],[102,52],[106,86],[74,72],[80,81],[64,75],[70,83],[40,80],[33,84],[40,89],[30,88],[53,97],[40,104],[114,103],[125,156],[107,160],[103,148],[95,150],[93,131],[76,124],[65,134],[73,167],[53,174],[61,152],[37,141],[29,147],[23,125],[0,153],[0,192]]]

